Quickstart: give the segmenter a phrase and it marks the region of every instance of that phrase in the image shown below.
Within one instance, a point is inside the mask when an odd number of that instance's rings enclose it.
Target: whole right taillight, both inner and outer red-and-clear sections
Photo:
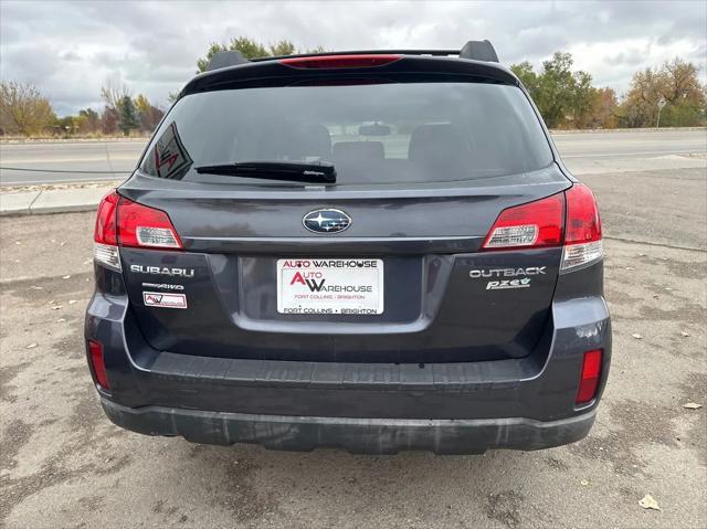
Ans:
[[[576,183],[563,193],[502,211],[482,250],[550,246],[562,246],[561,273],[603,257],[599,209],[587,186]]]

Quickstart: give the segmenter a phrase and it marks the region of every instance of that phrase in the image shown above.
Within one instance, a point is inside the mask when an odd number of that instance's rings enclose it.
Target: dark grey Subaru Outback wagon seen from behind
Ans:
[[[594,422],[597,201],[488,41],[217,54],[94,240],[86,356],[124,429],[478,454]]]

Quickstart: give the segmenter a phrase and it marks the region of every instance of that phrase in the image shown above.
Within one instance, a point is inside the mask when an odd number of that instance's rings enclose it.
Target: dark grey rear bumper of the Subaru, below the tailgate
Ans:
[[[143,337],[119,276],[94,295],[85,338],[103,345],[106,414],[148,435],[293,451],[538,449],[587,435],[609,375],[609,313],[601,296],[582,295],[582,277],[558,283],[538,345],[518,359],[346,363],[218,358],[198,343],[191,355],[158,350]],[[583,355],[594,349],[603,351],[600,385],[578,405]]]

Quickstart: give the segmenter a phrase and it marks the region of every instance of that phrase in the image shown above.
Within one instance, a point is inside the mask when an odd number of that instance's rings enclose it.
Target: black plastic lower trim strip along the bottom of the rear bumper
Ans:
[[[489,448],[540,449],[573,443],[590,431],[595,412],[559,421],[530,419],[349,419],[126,408],[102,399],[118,426],[147,435],[178,435],[194,443],[253,443],[271,449],[344,448],[356,454],[420,449],[474,454]]]

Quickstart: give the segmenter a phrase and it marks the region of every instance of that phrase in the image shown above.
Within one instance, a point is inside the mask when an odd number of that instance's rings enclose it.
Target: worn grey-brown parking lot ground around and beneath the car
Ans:
[[[707,410],[684,408],[707,404],[706,172],[582,176],[603,215],[613,364],[590,436],[534,453],[278,453],[119,430],[84,357],[94,214],[0,219],[0,526],[706,527]]]

